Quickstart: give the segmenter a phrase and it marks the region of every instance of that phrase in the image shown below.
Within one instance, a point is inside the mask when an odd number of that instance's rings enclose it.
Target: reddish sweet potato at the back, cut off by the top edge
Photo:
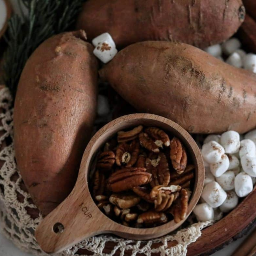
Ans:
[[[244,17],[242,0],[89,0],[77,28],[89,39],[109,32],[118,47],[147,40],[206,47],[231,37]]]

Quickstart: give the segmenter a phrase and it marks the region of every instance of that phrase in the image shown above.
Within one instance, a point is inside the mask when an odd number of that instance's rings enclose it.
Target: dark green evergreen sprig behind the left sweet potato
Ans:
[[[4,80],[13,97],[23,67],[36,47],[54,34],[69,29],[84,0],[18,0],[27,14],[12,15],[5,36]]]

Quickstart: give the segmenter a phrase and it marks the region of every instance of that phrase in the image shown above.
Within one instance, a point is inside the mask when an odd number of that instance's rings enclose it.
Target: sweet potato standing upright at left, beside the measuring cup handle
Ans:
[[[76,31],[44,41],[18,85],[15,155],[43,216],[71,192],[96,115],[98,61],[85,40]]]

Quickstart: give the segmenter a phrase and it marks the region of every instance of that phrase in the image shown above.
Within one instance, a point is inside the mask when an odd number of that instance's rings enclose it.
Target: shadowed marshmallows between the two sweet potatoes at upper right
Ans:
[[[247,54],[240,49],[241,46],[242,44],[237,38],[231,38],[222,45],[215,44],[205,48],[204,51],[222,61],[224,61],[223,57],[227,57],[226,63],[256,73],[256,54]]]

